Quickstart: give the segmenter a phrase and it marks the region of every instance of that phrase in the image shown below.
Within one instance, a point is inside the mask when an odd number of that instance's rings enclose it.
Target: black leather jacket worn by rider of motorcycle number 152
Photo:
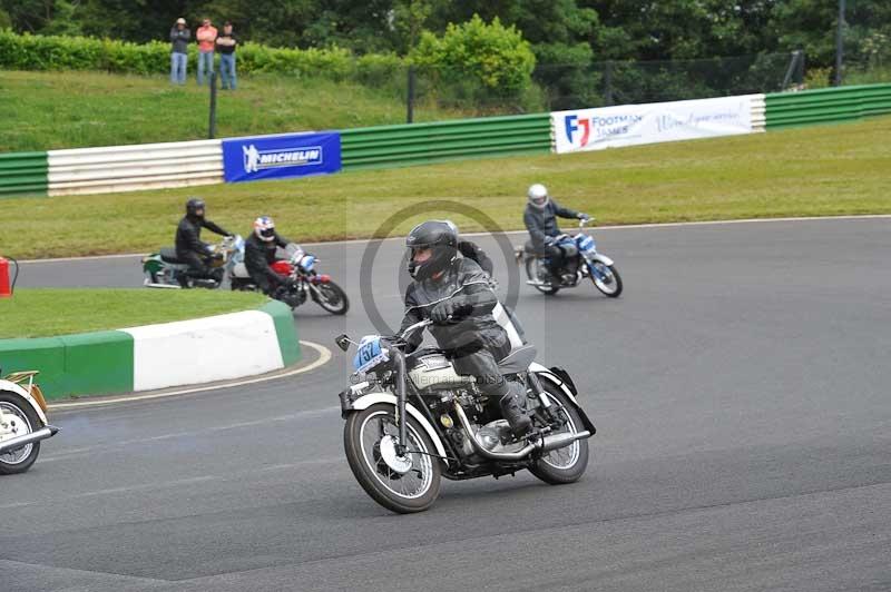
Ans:
[[[466,258],[452,260],[439,279],[414,282],[405,290],[405,316],[399,332],[409,325],[430,318],[430,310],[450,297],[463,300],[470,313],[460,322],[431,325],[430,333],[443,349],[483,346],[501,347],[507,342],[505,329],[492,316],[498,297],[489,287],[489,277],[474,262]],[[423,332],[409,336],[409,348],[415,349],[423,341]]]

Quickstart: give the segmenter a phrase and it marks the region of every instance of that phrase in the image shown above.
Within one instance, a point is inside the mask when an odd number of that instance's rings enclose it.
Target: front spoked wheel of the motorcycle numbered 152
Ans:
[[[442,470],[430,436],[408,416],[408,451],[400,456],[393,405],[351,413],[343,431],[346,461],[372,500],[393,512],[423,512],[439,496]]]

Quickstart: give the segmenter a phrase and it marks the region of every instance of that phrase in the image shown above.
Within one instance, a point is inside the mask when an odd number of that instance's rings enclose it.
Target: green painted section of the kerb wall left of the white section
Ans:
[[[40,371],[37,382],[49,399],[133,391],[133,337],[104,330],[45,337],[0,339],[3,373]]]

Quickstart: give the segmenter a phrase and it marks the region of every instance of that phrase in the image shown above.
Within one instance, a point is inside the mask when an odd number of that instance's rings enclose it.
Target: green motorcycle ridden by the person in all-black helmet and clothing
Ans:
[[[241,236],[227,236],[214,245],[208,254],[210,268],[223,268],[223,275],[235,266],[233,255],[244,251],[244,239]],[[143,257],[143,284],[149,288],[218,288],[221,283],[210,278],[192,278],[187,275],[188,265],[176,256],[176,248],[161,247],[157,253]]]

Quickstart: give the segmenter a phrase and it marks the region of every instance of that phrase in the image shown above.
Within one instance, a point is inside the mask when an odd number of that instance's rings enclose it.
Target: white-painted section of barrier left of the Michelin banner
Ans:
[[[50,150],[49,195],[223,182],[221,140]]]

